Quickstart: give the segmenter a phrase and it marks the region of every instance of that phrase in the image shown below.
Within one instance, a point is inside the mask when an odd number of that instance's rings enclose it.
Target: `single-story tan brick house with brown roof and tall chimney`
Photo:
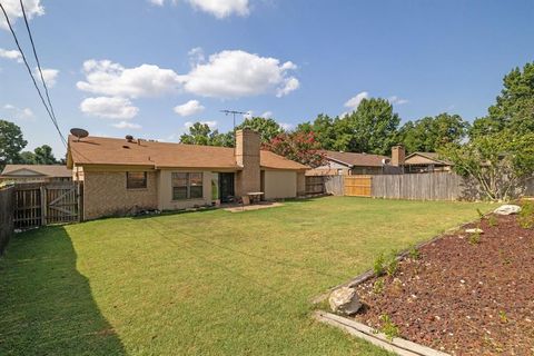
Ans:
[[[294,198],[304,194],[308,169],[260,150],[259,135],[249,129],[236,132],[236,148],[69,137],[67,165],[83,181],[85,219],[211,205],[248,192]]]

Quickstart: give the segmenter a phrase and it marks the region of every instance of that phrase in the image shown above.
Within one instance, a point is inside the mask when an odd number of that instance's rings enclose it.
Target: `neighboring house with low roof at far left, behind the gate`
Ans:
[[[72,170],[59,165],[7,165],[2,182],[51,182],[72,180]]]

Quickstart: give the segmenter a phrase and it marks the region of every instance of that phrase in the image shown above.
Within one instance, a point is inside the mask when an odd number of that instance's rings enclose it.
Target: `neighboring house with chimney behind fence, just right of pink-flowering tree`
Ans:
[[[306,176],[353,176],[353,175],[384,175],[402,171],[399,162],[404,159],[404,148],[392,148],[392,158],[372,154],[356,154],[343,151],[323,151],[326,157],[324,166],[310,169]],[[399,155],[403,155],[399,157]]]

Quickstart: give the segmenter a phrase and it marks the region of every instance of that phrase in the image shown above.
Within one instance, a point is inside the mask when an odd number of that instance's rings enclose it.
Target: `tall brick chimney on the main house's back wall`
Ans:
[[[236,175],[236,196],[260,191],[259,134],[250,129],[236,131],[236,162],[243,167]]]

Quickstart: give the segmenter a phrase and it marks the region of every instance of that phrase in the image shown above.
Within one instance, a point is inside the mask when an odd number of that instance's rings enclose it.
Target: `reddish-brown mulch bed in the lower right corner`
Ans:
[[[452,355],[534,355],[534,229],[494,217],[467,226],[478,244],[458,230],[399,261],[382,291],[359,285],[356,319],[382,329],[388,315],[400,337]]]

